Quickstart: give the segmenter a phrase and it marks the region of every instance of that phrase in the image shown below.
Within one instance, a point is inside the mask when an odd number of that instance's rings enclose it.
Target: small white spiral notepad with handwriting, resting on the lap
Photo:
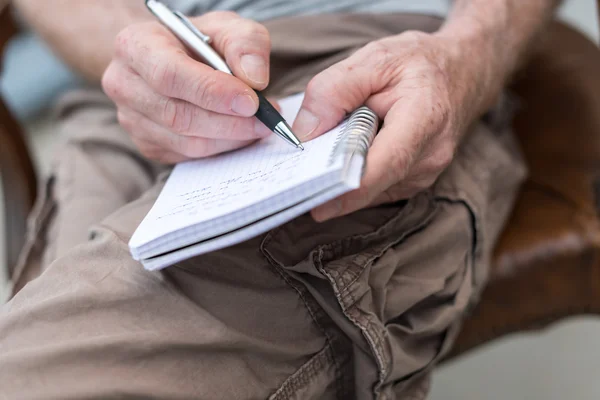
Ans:
[[[292,123],[303,94],[279,101]],[[378,119],[360,107],[300,151],[271,135],[251,146],[176,165],[129,242],[158,270],[263,234],[360,186]]]

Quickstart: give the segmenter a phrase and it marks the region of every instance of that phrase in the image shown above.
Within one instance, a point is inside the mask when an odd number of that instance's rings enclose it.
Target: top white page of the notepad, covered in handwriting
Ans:
[[[300,94],[280,101],[288,122],[295,118],[302,98]],[[339,163],[330,163],[340,129],[342,125],[304,143],[304,151],[273,134],[245,149],[178,164],[134,233],[130,247],[189,226],[227,219],[251,206],[270,207],[267,200],[278,193],[308,190],[319,177],[341,169]]]

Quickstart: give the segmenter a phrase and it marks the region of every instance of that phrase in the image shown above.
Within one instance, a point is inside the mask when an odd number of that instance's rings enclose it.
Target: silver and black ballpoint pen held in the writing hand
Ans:
[[[146,7],[203,62],[216,70],[233,75],[225,60],[210,45],[210,37],[200,32],[185,15],[171,10],[157,0],[146,0]],[[300,140],[281,114],[259,91],[255,90],[255,92],[259,100],[255,117],[292,146],[304,150]]]

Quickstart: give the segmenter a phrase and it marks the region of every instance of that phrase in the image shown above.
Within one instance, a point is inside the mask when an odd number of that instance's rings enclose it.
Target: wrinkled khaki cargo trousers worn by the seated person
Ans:
[[[411,15],[266,23],[270,95]],[[160,272],[127,242],[169,169],[139,155],[99,91],[60,105],[65,138],[0,309],[0,398],[423,399],[486,282],[523,162],[506,108],[474,124],[414,198],[265,235]]]

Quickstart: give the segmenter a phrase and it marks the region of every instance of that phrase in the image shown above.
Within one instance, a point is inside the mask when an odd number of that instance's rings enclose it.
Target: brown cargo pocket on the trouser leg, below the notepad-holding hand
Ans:
[[[350,240],[321,248],[315,266],[368,343],[377,380],[365,384],[376,398],[394,398],[439,361],[458,332],[473,294],[475,225],[468,203],[432,196],[375,236],[381,242],[372,247]]]

